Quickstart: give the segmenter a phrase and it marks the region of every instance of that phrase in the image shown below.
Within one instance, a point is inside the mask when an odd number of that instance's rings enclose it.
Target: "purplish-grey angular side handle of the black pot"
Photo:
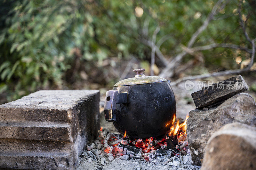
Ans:
[[[118,93],[118,90],[108,90],[104,105],[105,120],[108,122],[116,121],[117,103],[127,103],[127,93]]]

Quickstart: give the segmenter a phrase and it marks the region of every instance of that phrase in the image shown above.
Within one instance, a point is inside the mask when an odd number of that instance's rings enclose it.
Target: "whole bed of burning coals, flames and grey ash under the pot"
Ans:
[[[173,132],[162,138],[134,140],[101,128],[77,169],[200,169],[192,165],[186,131],[177,127],[182,126],[176,122],[176,133],[171,129]]]

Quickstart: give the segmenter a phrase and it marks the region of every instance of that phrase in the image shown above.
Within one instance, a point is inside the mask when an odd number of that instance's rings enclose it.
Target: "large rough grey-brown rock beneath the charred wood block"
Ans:
[[[191,110],[187,120],[188,143],[192,160],[201,165],[205,145],[211,135],[222,126],[240,122],[256,126],[256,105],[248,94],[237,94],[218,107],[209,110]]]

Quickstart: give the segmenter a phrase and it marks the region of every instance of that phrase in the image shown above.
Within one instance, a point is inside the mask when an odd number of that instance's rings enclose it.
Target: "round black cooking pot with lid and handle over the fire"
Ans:
[[[157,76],[145,76],[145,69],[133,70],[137,75],[124,79],[106,93],[105,119],[129,138],[164,135],[174,124],[175,97],[169,82]]]

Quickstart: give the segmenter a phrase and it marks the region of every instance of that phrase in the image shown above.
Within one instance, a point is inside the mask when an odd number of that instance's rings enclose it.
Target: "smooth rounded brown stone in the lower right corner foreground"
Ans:
[[[256,128],[233,123],[209,139],[202,170],[256,169]]]

